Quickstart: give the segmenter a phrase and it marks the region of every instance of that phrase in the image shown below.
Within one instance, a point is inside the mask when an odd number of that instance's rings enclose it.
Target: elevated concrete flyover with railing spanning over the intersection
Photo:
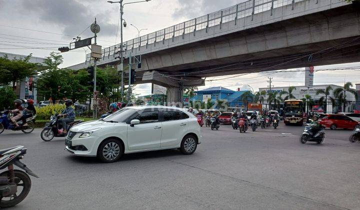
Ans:
[[[181,79],[360,61],[358,14],[343,0],[250,0],[126,41],[124,54],[141,54],[136,74],[157,71],[161,76],[149,80],[162,85],[163,78],[183,85]],[[103,49],[99,64],[118,63],[118,49]]]

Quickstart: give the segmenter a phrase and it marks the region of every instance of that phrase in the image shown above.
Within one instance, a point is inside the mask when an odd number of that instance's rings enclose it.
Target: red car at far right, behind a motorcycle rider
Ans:
[[[342,114],[327,114],[319,119],[319,122],[332,130],[336,128],[354,129],[355,125],[359,123],[358,121]]]

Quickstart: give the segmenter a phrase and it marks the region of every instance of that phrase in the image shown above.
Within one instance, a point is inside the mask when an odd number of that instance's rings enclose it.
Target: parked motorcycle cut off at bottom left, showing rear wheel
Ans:
[[[31,180],[27,175],[38,176],[33,173],[20,159],[26,154],[24,146],[14,146],[0,150],[0,169],[7,167],[0,173],[0,207],[11,207],[21,202],[31,188]],[[22,170],[14,169],[16,165]]]

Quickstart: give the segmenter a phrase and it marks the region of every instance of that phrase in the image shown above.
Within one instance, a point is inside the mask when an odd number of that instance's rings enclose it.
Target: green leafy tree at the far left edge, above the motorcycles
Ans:
[[[0,57],[0,83],[12,83],[12,88],[15,89],[15,84],[21,81],[26,76],[36,75],[37,63],[29,62],[31,54],[23,59],[9,60],[7,56]]]

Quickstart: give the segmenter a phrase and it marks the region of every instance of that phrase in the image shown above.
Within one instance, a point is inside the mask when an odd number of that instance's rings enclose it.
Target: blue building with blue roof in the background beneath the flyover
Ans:
[[[212,101],[226,100],[230,107],[241,107],[243,106],[242,94],[248,90],[234,91],[225,87],[209,87],[203,90],[196,91],[196,95],[190,100],[192,101],[203,101],[207,102],[210,98]],[[249,100],[251,102],[251,100]]]

